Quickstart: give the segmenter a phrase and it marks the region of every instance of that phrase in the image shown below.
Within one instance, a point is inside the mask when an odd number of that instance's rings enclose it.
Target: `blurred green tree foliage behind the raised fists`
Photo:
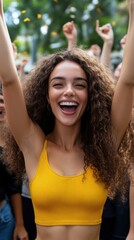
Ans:
[[[96,19],[103,25],[110,22],[115,32],[114,48],[119,39],[126,32],[127,12],[124,17],[120,5],[122,0],[99,0],[97,5],[92,0],[23,0],[18,1],[17,9],[20,11],[20,24],[9,26],[14,40],[18,34],[38,37],[38,49],[50,53],[59,48],[66,48],[67,42],[62,32],[62,26],[67,21],[74,21],[78,30],[78,44],[88,48],[93,43],[102,46],[102,40],[95,32]],[[4,1],[6,7],[10,1]],[[125,10],[123,10],[125,11]],[[50,23],[48,24],[48,19]],[[41,26],[48,26],[46,35],[42,35]],[[58,47],[52,47],[57,43]],[[29,46],[30,47],[30,46]]]

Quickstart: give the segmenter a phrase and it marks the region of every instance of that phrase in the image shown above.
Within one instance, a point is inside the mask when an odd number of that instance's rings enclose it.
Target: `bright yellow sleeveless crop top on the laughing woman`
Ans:
[[[95,225],[101,223],[107,190],[96,182],[91,168],[76,176],[61,176],[51,169],[47,141],[30,183],[35,222],[39,225]]]

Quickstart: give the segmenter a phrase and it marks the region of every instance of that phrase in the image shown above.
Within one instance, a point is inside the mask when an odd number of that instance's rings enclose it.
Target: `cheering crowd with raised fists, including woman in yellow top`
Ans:
[[[123,59],[111,65],[111,24],[80,49],[17,68],[0,0],[0,240],[133,240],[134,1]]]

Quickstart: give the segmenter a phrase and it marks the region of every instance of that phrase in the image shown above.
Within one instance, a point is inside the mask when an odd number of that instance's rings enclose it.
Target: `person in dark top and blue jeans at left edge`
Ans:
[[[0,240],[28,240],[23,223],[21,183],[16,182],[15,174],[10,173],[2,156],[5,121],[6,113],[0,86]]]

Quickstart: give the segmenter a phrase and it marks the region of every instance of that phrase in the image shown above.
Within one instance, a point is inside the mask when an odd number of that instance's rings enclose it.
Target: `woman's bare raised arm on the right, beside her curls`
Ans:
[[[134,103],[134,0],[127,0],[129,23],[121,74],[112,102],[112,125],[117,148],[131,119]]]

